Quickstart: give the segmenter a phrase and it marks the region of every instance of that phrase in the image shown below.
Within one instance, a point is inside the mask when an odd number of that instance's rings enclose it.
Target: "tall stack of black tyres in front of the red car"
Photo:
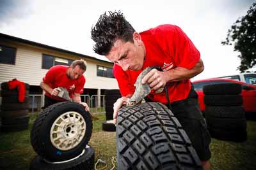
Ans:
[[[205,120],[212,138],[243,142],[247,139],[241,85],[204,86]]]

